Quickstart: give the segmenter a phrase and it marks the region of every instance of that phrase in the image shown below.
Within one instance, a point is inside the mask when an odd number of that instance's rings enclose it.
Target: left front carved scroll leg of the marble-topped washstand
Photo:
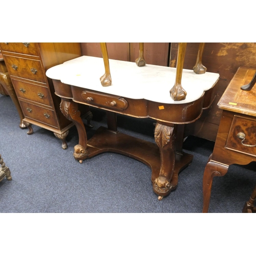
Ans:
[[[78,104],[72,100],[61,99],[60,111],[67,119],[73,121],[76,125],[79,135],[79,144],[74,147],[74,158],[81,163],[83,159],[87,158],[87,135],[80,117]]]

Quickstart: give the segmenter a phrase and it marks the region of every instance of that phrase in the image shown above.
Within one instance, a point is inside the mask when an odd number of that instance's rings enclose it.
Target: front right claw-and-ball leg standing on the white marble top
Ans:
[[[184,100],[187,95],[186,91],[181,86],[182,69],[183,69],[186,47],[187,47],[186,42],[179,42],[177,67],[176,67],[176,79],[175,79],[174,87],[170,89],[170,97],[172,97],[172,99],[175,101]]]

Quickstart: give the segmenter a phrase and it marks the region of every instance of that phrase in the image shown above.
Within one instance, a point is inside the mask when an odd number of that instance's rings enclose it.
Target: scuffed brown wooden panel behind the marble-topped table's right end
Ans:
[[[188,43],[184,60],[184,69],[193,69],[199,43]],[[178,43],[172,43],[170,67],[176,67]],[[203,112],[202,117],[193,124],[186,125],[185,133],[215,141],[221,110],[217,103],[239,67],[256,67],[256,44],[254,42],[208,42],[205,44],[203,65],[207,72],[220,74],[216,87],[216,99],[211,108]]]

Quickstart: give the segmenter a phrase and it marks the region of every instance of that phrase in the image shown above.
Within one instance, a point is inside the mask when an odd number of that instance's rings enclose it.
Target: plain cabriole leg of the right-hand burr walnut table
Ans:
[[[203,176],[203,212],[208,212],[209,209],[212,179],[215,176],[224,176],[228,167],[228,165],[211,161],[210,156]]]

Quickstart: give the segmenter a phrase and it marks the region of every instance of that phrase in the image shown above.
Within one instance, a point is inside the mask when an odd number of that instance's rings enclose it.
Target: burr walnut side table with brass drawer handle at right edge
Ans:
[[[231,164],[256,161],[256,88],[241,90],[254,73],[253,68],[239,68],[218,103],[223,111],[214,151],[204,170],[203,212],[208,212],[215,176],[224,176]]]

